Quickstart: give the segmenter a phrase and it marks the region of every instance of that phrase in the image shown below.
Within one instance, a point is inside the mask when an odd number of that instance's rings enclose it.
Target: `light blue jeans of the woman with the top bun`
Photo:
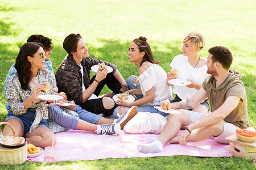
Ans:
[[[157,107],[159,105],[141,105],[141,106],[138,106],[138,112],[150,112],[150,113],[158,113],[158,114],[161,114],[162,116],[167,116],[169,115],[168,113],[164,113],[164,112],[160,112],[158,111],[158,109],[156,109],[155,107]],[[115,108],[114,109],[114,112],[113,112],[113,117],[114,118],[118,118],[118,114],[117,114],[117,110],[118,110],[119,107]],[[129,107],[126,107],[127,111],[130,109]]]

